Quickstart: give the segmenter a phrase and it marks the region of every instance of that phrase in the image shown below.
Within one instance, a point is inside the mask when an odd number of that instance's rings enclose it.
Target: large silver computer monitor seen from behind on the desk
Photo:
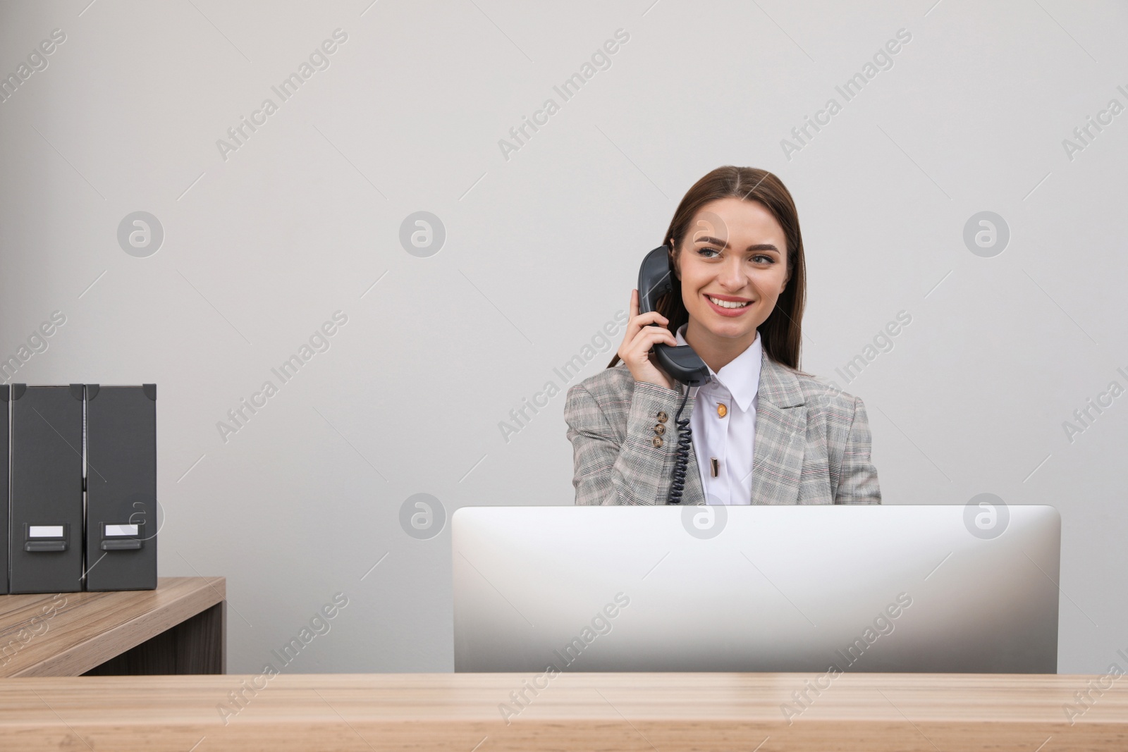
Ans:
[[[1042,505],[462,507],[455,671],[1056,673],[1060,527]]]

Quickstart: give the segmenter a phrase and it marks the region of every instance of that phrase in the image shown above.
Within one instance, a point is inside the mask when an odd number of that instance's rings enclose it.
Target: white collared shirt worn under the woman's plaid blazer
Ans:
[[[679,345],[688,324],[678,328]],[[751,504],[752,454],[756,448],[756,405],[760,387],[763,346],[760,335],[721,371],[710,369],[713,380],[695,387],[694,412],[689,416],[694,452],[700,470],[706,504]],[[706,366],[707,368],[707,366]],[[723,405],[724,417],[719,408]],[[713,477],[711,458],[716,458]]]

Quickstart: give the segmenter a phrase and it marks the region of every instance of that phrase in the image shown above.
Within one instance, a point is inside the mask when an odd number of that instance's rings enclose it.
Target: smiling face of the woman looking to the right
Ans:
[[[681,241],[676,268],[695,335],[742,347],[756,339],[791,274],[783,228],[764,204],[742,198],[702,206]],[[743,306],[726,307],[735,303]]]

